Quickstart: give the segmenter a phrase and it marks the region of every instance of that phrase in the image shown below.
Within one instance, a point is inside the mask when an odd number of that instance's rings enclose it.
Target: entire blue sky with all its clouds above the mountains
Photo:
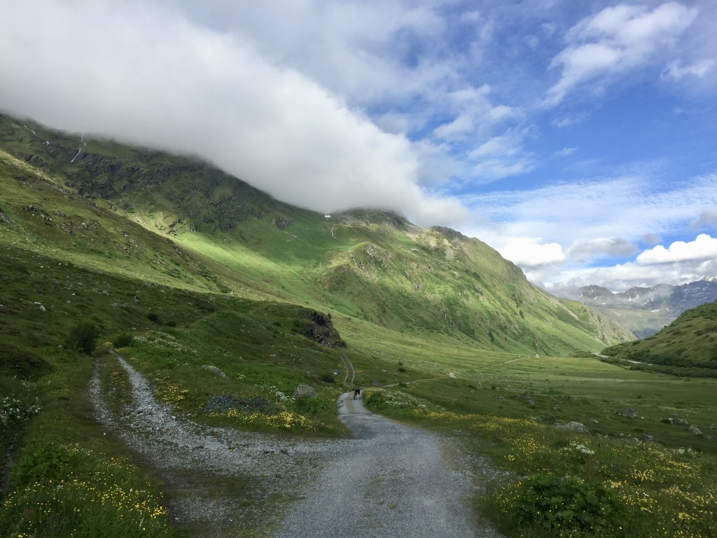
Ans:
[[[558,296],[717,275],[717,2],[0,0],[0,110],[391,209]]]

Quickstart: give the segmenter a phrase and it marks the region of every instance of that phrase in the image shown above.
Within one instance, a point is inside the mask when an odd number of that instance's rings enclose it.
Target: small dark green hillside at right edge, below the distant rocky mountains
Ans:
[[[717,303],[686,310],[657,334],[602,354],[632,369],[717,377]]]

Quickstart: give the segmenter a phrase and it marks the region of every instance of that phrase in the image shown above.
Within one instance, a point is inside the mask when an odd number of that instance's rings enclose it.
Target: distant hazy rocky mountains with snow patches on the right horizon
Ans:
[[[604,313],[638,338],[645,338],[660,331],[685,310],[717,300],[717,276],[683,285],[630,288],[622,293],[612,293],[599,285],[587,285],[579,288],[572,298]]]

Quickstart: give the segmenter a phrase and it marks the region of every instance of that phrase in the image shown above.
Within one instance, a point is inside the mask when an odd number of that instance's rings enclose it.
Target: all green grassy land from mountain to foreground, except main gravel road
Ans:
[[[3,537],[270,536],[354,387],[480,536],[715,535],[715,303],[637,340],[450,228],[9,115],[0,264]]]

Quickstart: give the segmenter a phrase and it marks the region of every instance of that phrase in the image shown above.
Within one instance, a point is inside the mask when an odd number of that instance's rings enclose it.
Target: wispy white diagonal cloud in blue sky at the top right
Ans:
[[[568,46],[551,62],[561,75],[548,90],[545,104],[560,103],[584,82],[599,90],[614,77],[655,62],[696,16],[697,9],[668,2],[652,11],[621,4],[583,19],[567,32]]]

